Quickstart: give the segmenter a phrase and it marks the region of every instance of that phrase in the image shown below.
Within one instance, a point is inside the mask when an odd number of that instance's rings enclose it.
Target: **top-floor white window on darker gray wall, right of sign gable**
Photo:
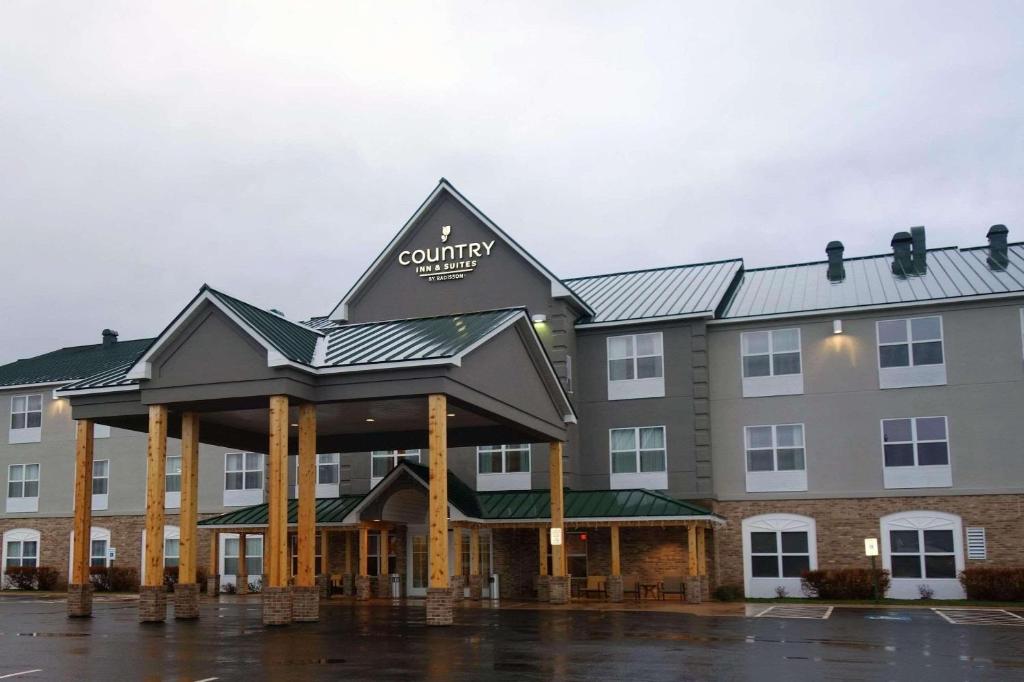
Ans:
[[[665,351],[660,332],[609,336],[608,399],[665,395]]]

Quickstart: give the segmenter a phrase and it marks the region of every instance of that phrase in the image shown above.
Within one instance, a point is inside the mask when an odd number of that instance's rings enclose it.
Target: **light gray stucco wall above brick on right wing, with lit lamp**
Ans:
[[[921,306],[710,329],[715,491],[720,499],[1024,492],[1021,303]],[[879,388],[874,323],[941,314],[948,383]],[[844,333],[833,334],[842,318]],[[802,395],[742,397],[739,335],[799,327]],[[946,416],[952,487],[886,489],[882,419]],[[805,425],[808,491],[748,494],[743,427]]]

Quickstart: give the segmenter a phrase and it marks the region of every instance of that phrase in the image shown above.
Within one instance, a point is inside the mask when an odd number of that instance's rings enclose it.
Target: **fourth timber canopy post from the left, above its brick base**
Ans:
[[[267,450],[269,504],[263,543],[264,572],[272,588],[288,586],[288,396],[271,395]],[[268,542],[267,542],[268,541]]]

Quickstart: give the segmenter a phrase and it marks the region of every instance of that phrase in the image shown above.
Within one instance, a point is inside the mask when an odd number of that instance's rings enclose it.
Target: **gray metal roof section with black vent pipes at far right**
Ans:
[[[844,260],[846,278],[829,282],[827,261],[752,268],[743,272],[723,318],[814,310],[926,303],[950,298],[1024,294],[1024,244],[1009,248],[1010,263],[993,269],[988,249],[930,249],[922,274],[894,274],[892,254]]]

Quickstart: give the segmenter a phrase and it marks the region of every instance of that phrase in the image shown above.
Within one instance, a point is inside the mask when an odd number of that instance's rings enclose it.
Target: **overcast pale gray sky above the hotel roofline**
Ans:
[[[1020,240],[1022,92],[1024,2],[6,0],[0,361],[326,314],[441,176],[562,276]]]

